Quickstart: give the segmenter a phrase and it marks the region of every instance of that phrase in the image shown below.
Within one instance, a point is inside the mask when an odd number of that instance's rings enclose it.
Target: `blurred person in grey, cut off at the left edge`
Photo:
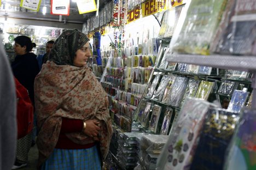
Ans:
[[[15,161],[16,93],[13,74],[2,43],[0,61],[0,169],[9,170]]]

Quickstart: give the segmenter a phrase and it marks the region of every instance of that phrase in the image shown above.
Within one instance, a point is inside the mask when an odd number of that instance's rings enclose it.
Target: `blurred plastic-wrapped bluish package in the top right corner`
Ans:
[[[214,40],[217,47],[212,50],[224,54],[255,55],[255,0],[232,0],[227,5],[226,13]]]

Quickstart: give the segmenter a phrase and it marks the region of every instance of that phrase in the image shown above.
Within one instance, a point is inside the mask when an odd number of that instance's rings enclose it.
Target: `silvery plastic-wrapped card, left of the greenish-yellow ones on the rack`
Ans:
[[[178,107],[181,104],[182,96],[187,88],[188,78],[187,77],[176,77],[172,85],[171,93],[168,96],[167,104],[174,107]]]

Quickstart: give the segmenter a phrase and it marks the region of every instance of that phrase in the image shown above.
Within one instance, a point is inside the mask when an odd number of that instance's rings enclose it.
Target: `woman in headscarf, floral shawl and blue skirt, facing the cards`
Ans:
[[[101,169],[112,136],[108,98],[88,68],[89,39],[63,32],[34,90],[40,169]]]

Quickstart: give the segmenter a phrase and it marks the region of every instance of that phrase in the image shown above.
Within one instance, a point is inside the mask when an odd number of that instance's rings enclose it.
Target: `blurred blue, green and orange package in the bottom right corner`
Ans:
[[[225,170],[256,169],[256,110],[246,108],[240,118],[228,155]]]

